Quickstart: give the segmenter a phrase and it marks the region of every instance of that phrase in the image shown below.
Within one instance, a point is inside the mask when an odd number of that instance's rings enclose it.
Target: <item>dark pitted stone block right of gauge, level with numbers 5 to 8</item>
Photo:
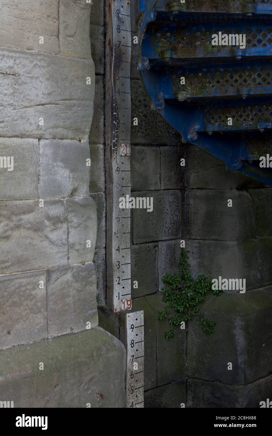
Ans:
[[[181,233],[181,193],[179,191],[134,192],[134,197],[153,197],[153,211],[133,209],[133,242],[179,238]]]

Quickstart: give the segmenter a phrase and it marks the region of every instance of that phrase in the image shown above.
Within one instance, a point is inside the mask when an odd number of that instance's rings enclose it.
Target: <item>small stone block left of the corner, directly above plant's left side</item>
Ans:
[[[165,274],[175,275],[179,273],[181,252],[180,239],[158,243],[158,281],[160,291],[164,286],[162,277]]]

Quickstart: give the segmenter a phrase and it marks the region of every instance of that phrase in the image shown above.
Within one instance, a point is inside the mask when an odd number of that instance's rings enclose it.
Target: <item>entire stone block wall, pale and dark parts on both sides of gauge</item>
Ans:
[[[106,306],[105,10],[92,3],[0,0],[0,156],[14,158],[0,168],[0,400],[15,407],[125,407],[120,317]],[[131,1],[132,35],[136,14]],[[272,191],[181,144],[150,108],[137,48],[131,193],[154,205],[131,218],[145,407],[259,407],[272,389]],[[247,289],[207,298],[212,335],[192,320],[166,341],[162,277],[179,271],[181,239],[193,276]]]

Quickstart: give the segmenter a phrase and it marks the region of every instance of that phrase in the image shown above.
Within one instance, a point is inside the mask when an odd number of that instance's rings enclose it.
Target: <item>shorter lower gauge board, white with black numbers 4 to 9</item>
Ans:
[[[144,407],[144,311],[126,314],[127,407]]]

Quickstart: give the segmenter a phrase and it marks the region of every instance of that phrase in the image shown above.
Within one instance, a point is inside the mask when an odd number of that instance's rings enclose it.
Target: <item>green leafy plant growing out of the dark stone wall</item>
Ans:
[[[168,317],[168,323],[173,326],[168,332],[165,332],[165,338],[168,340],[176,333],[176,327],[182,322],[189,321],[193,316],[199,318],[202,329],[207,333],[213,333],[214,321],[207,320],[203,313],[200,313],[199,303],[202,303],[207,295],[222,295],[221,290],[212,290],[212,282],[207,277],[200,275],[196,280],[190,273],[190,264],[188,262],[188,252],[181,254],[180,273],[175,276],[166,274],[162,278],[162,283],[166,285],[162,288],[164,296],[162,301],[166,304],[165,309],[158,312],[158,320],[166,320],[170,309],[176,312],[175,316]]]

